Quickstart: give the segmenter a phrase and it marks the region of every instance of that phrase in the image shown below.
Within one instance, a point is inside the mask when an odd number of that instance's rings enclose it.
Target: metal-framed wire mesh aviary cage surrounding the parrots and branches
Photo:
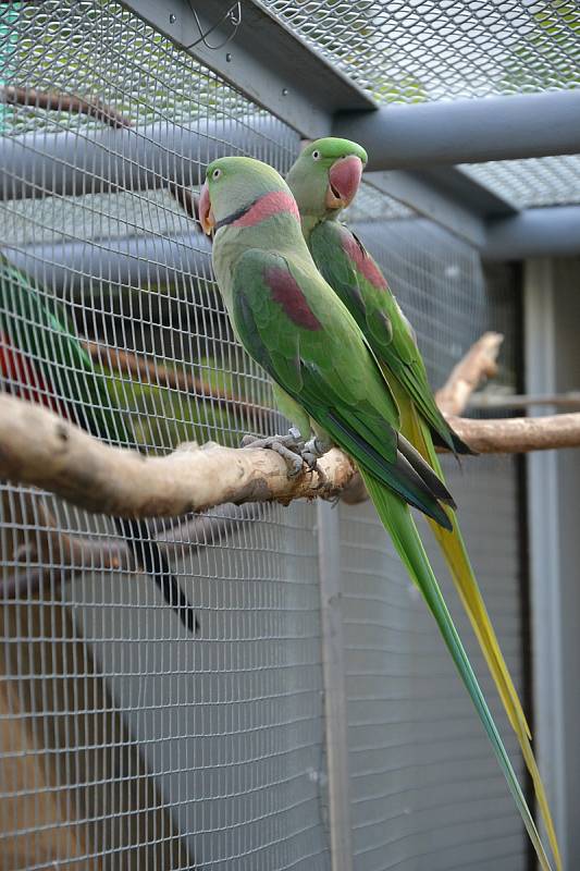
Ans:
[[[148,453],[284,426],[224,317],[194,195],[218,154],[285,172],[300,137],[333,123],[381,143],[350,220],[433,384],[499,329],[501,383],[519,389],[522,272],[507,261],[578,253],[579,61],[578,9],[558,0],[0,1],[0,359],[26,348],[2,389],[84,427],[106,410],[100,437]],[[543,131],[536,99],[553,107]],[[397,124],[404,137],[416,118],[404,149]],[[444,161],[446,124],[458,135]],[[481,162],[504,157],[534,159]],[[62,360],[62,336],[17,305],[18,273],[74,326],[98,407],[74,359],[57,387],[30,384],[35,363]],[[521,462],[446,468],[529,697]],[[110,518],[34,488],[0,492],[7,871],[531,867],[485,737],[370,507],[150,520],[195,604],[192,637]],[[330,680],[344,728],[328,716]]]

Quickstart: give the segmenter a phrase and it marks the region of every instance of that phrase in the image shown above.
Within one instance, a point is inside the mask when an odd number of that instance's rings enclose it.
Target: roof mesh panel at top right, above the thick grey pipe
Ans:
[[[580,84],[576,0],[263,0],[380,102]]]

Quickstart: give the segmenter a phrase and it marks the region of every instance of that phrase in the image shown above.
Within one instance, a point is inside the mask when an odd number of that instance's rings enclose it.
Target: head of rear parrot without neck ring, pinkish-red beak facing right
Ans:
[[[300,214],[322,220],[346,208],[367,161],[365,149],[349,139],[329,136],[307,145],[286,176]]]

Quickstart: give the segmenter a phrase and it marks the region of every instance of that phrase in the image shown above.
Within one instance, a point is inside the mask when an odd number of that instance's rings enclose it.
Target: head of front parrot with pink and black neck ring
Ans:
[[[222,157],[209,164],[199,197],[199,222],[208,235],[285,213],[299,222],[296,200],[272,167],[249,157]]]

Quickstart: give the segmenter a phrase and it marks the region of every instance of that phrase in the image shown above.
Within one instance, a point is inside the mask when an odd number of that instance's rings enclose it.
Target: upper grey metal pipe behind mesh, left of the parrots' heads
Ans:
[[[0,199],[57,194],[81,196],[144,191],[170,182],[196,185],[208,163],[224,155],[258,152],[263,137],[287,143],[275,119],[193,121],[189,126],[156,122],[87,133],[26,133],[0,138]]]

